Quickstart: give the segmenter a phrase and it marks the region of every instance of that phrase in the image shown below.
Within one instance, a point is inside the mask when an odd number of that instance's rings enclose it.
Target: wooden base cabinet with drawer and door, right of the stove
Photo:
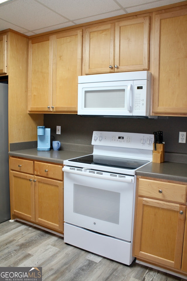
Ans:
[[[186,271],[186,192],[185,184],[137,177],[133,246],[136,258]]]

